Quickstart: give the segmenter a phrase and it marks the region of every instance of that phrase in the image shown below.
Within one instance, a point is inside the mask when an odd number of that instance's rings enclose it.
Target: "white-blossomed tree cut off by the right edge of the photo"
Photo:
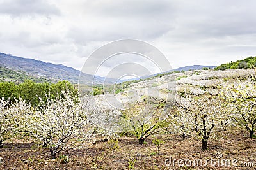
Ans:
[[[245,127],[249,138],[253,138],[256,131],[256,81],[246,80],[224,83],[221,97],[226,101],[231,118],[237,125]]]

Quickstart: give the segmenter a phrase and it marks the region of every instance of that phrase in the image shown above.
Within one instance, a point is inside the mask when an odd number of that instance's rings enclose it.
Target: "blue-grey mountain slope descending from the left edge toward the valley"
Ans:
[[[23,71],[33,76],[39,76],[51,81],[68,80],[72,83],[77,83],[80,76],[80,71],[72,67],[16,57],[5,53],[0,53],[0,67],[6,67],[13,71]],[[90,74],[81,73],[81,80],[83,80],[83,83],[85,84],[92,83],[92,78],[93,76]],[[97,77],[94,79],[97,82],[102,81]]]

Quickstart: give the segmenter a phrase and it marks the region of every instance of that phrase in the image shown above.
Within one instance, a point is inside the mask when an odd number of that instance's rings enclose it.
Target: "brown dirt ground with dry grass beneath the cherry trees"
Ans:
[[[84,149],[64,150],[57,159],[51,159],[49,150],[38,143],[15,139],[0,149],[0,169],[256,169],[256,139],[249,139],[248,132],[235,127],[215,132],[205,151],[200,139],[193,136],[184,141],[176,134],[155,137],[165,141],[160,155],[153,137],[139,145],[134,137],[125,136],[119,139],[114,158],[109,144],[98,142]],[[68,155],[69,162],[61,163],[60,155]]]

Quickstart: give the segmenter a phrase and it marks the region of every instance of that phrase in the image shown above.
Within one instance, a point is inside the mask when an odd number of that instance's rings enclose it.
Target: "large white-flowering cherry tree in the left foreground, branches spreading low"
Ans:
[[[92,131],[87,111],[78,96],[63,90],[56,100],[51,95],[47,95],[46,102],[40,100],[38,111],[26,115],[24,127],[27,134],[42,141],[55,158],[56,153],[77,139],[90,139]]]

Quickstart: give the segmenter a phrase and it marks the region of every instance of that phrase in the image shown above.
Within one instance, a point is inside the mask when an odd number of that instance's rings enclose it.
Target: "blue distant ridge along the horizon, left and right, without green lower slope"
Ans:
[[[104,81],[105,83],[116,83],[114,78],[106,78],[106,80],[104,77],[100,76],[94,76],[93,78],[93,75],[83,73],[63,64],[52,64],[51,62],[43,62],[41,60],[17,57],[1,52],[0,58],[0,66],[2,67],[7,67],[8,69],[13,69],[14,71],[22,71],[28,73],[29,75],[44,77],[51,81],[68,80],[72,83],[83,83],[86,85],[92,85],[92,81],[95,84],[101,84]],[[172,71],[189,71],[191,69],[202,69],[203,67],[214,68],[214,66],[193,65],[180,67],[173,69]],[[124,81],[130,80],[120,80],[118,83]]]

